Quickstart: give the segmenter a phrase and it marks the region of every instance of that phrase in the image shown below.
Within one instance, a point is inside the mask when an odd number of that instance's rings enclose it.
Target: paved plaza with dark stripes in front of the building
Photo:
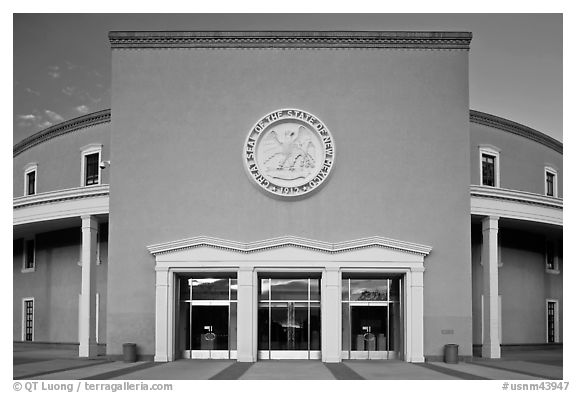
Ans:
[[[72,350],[15,348],[14,379],[41,380],[534,380],[562,379],[562,349],[512,351],[502,359],[446,364],[397,360],[177,360],[125,363],[79,359]]]

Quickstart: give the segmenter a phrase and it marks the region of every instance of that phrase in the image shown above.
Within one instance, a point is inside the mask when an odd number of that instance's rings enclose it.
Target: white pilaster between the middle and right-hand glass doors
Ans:
[[[337,267],[322,272],[322,361],[338,363],[342,360],[342,279]]]

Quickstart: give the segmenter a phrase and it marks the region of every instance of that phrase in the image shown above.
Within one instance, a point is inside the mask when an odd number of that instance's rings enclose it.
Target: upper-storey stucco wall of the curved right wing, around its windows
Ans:
[[[500,187],[544,194],[544,167],[552,166],[558,171],[558,196],[562,197],[562,154],[520,135],[476,123],[470,123],[471,184],[480,184],[479,145],[500,150]]]

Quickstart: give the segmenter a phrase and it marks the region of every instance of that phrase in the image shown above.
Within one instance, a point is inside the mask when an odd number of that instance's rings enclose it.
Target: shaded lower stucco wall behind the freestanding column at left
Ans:
[[[103,226],[104,232],[106,225]],[[78,302],[82,267],[80,228],[36,234],[36,270],[22,273],[22,239],[14,241],[13,337],[22,339],[22,299],[34,298],[34,341],[78,342]],[[100,244],[101,265],[96,268],[100,294],[99,340],[106,339],[106,278],[108,243]]]

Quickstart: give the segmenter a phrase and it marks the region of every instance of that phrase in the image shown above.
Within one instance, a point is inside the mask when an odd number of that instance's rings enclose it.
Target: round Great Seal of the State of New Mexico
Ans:
[[[262,189],[297,197],[317,189],[334,165],[334,140],[316,116],[279,109],[252,127],[244,144],[244,165]]]

